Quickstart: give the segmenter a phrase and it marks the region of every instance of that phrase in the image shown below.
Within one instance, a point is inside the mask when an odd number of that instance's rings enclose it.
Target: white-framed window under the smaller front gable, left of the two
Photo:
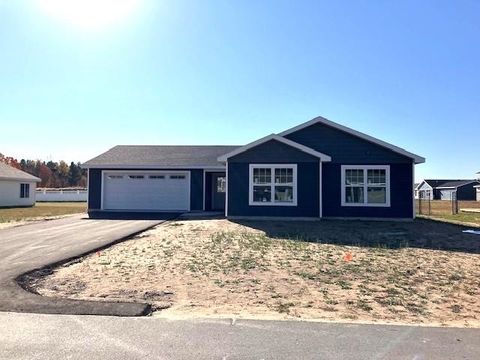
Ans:
[[[296,206],[296,164],[250,164],[249,205]]]

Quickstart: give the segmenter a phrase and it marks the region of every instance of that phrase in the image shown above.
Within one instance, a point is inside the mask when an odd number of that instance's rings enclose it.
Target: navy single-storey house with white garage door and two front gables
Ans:
[[[115,146],[87,161],[91,217],[224,211],[231,218],[415,217],[425,159],[317,117],[244,146]]]

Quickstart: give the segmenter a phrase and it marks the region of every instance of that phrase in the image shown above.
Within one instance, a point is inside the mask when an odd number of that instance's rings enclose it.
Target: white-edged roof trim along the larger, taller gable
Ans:
[[[411,159],[415,162],[415,164],[421,164],[421,163],[424,163],[424,162],[425,162],[425,158],[422,157],[422,156],[419,156],[419,155],[416,155],[416,154],[414,154],[414,153],[408,152],[408,151],[405,150],[405,149],[402,149],[402,148],[400,148],[400,147],[398,147],[398,146],[395,146],[395,145],[392,145],[392,144],[390,144],[390,143],[387,143],[387,142],[385,142],[385,141],[383,141],[383,140],[374,138],[373,136],[364,134],[364,133],[362,133],[362,132],[360,132],[360,131],[356,131],[356,130],[353,130],[353,129],[351,129],[351,128],[349,128],[349,127],[346,127],[346,126],[344,126],[344,125],[337,124],[336,122],[333,122],[333,121],[331,121],[331,120],[328,120],[328,119],[326,119],[326,118],[324,118],[324,117],[322,117],[322,116],[318,116],[318,117],[316,117],[316,118],[314,118],[314,119],[312,119],[312,120],[310,120],[310,121],[307,121],[307,122],[305,122],[305,123],[303,123],[303,124],[300,124],[300,125],[295,126],[295,127],[291,128],[291,129],[285,130],[285,131],[281,132],[281,133],[278,134],[278,135],[280,135],[280,136],[286,136],[286,135],[289,135],[289,134],[291,134],[291,133],[294,133],[294,132],[296,132],[296,131],[298,131],[298,130],[304,129],[304,128],[309,127],[309,126],[312,126],[312,125],[314,125],[314,124],[324,124],[324,125],[327,125],[327,126],[330,126],[330,127],[334,128],[334,129],[341,130],[341,131],[346,132],[346,133],[348,133],[348,134],[350,134],[350,135],[356,136],[356,137],[358,137],[358,138],[360,138],[360,139],[369,141],[369,142],[371,142],[371,143],[373,143],[373,144],[382,146],[382,147],[384,147],[384,148],[386,148],[386,149],[389,149],[389,150],[391,150],[391,151],[393,151],[393,152],[396,152],[396,153],[398,153],[398,154],[400,154],[400,155],[403,155],[403,156],[406,156],[406,157],[408,157],[408,158],[411,158]]]

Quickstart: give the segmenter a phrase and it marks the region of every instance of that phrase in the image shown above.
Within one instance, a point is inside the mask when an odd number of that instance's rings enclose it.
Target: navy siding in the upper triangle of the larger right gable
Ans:
[[[314,124],[285,136],[342,164],[393,164],[412,160],[382,146],[324,124]]]

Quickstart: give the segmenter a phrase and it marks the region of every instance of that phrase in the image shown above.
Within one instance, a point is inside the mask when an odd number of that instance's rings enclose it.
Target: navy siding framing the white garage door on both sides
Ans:
[[[105,169],[108,170],[141,170],[155,171],[158,169]],[[202,169],[162,169],[165,171],[190,171],[190,208],[203,210],[203,170]],[[88,179],[88,209],[99,210],[102,198],[102,169],[90,169]]]

